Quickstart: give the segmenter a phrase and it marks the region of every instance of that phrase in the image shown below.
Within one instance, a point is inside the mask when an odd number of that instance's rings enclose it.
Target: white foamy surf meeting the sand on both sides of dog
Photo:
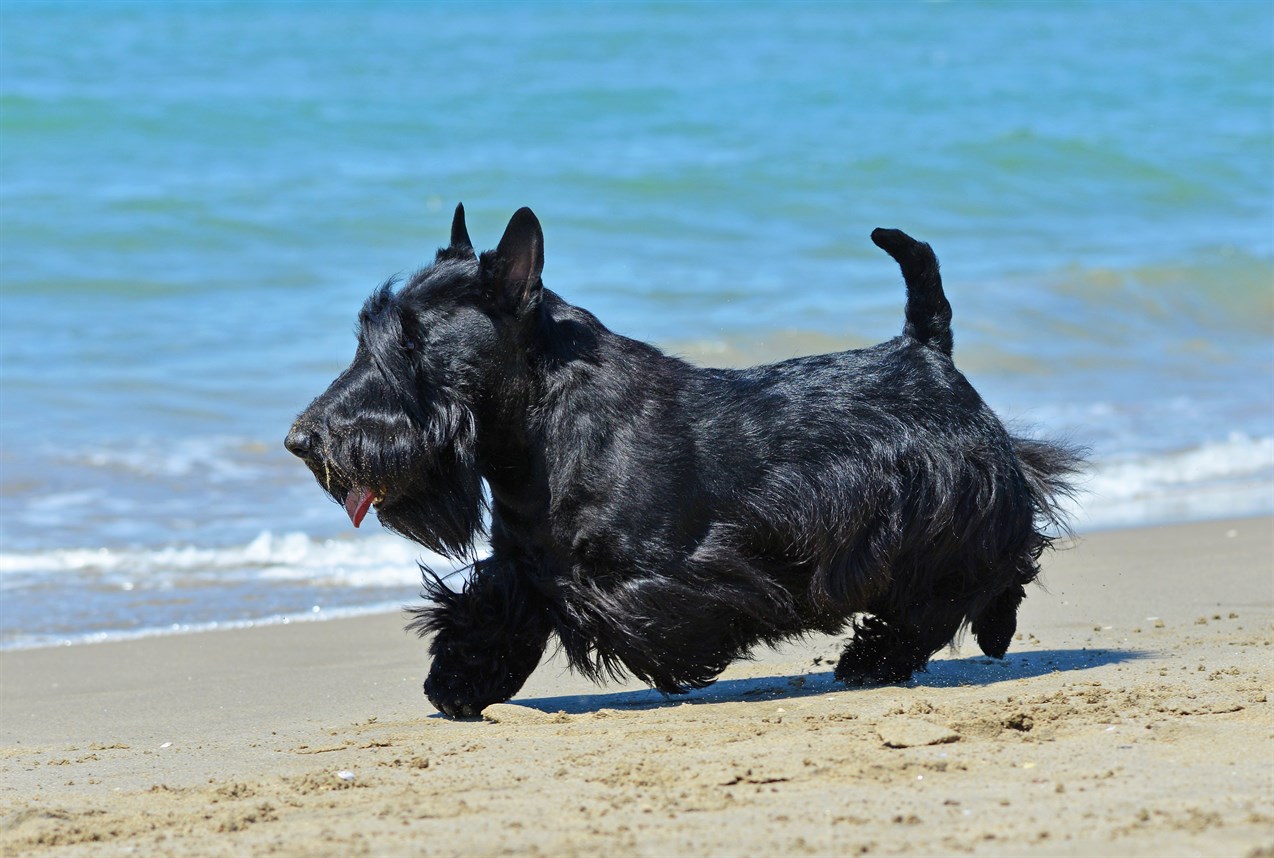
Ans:
[[[1071,504],[1085,530],[1274,513],[1274,437],[1232,435],[1159,454],[1097,459]],[[261,530],[229,546],[0,552],[0,649],[322,620],[391,611],[423,564],[457,565],[390,533],[315,538]],[[464,575],[450,583],[459,585]],[[50,606],[75,593],[87,613]],[[386,599],[394,599],[386,602]]]

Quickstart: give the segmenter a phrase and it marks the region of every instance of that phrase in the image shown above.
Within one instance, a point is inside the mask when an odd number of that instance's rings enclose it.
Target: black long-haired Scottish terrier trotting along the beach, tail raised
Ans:
[[[586,676],[670,694],[851,622],[848,685],[906,681],[966,625],[1004,655],[1082,460],[1010,435],[956,368],[929,245],[871,240],[902,268],[902,335],[747,370],[691,366],[544,288],[525,208],[479,256],[457,207],[434,263],[372,294],[287,447],[355,527],[375,505],[473,561],[459,593],[427,571],[414,609],[434,706],[507,700],[553,635]]]

